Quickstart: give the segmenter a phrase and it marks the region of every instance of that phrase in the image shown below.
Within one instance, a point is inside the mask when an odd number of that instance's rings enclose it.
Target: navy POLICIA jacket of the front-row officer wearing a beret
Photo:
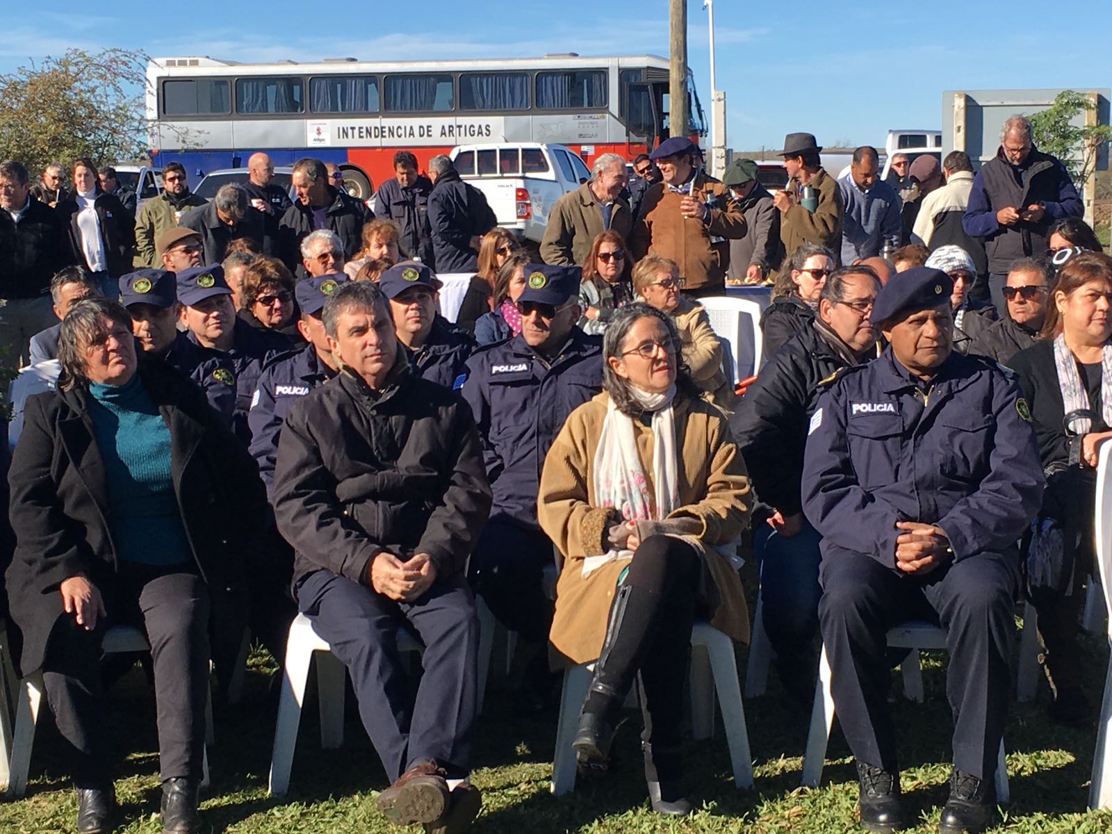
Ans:
[[[955,560],[1014,554],[1043,487],[1027,407],[991,359],[953,353],[923,381],[888,347],[842,371],[811,418],[803,512],[823,559],[864,554],[895,570],[902,520],[941,527]]]

